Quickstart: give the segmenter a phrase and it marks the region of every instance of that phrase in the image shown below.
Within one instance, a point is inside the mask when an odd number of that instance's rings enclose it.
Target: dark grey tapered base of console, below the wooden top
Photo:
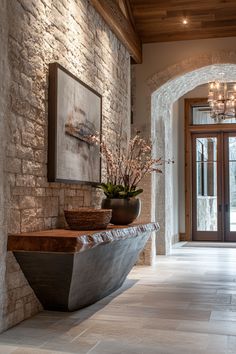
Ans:
[[[89,236],[90,245],[74,252],[14,251],[45,309],[78,310],[111,294],[123,284],[154,230],[132,227],[130,234],[129,228],[117,230],[118,234],[115,231],[112,230],[113,238],[109,231],[103,232],[102,239],[96,236],[93,245]]]

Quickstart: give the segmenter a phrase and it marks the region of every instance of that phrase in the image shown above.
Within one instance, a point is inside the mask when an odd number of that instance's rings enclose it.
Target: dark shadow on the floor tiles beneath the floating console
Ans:
[[[133,287],[137,279],[126,279],[122,287],[93,305],[74,312],[42,311],[0,334],[0,354],[2,345],[19,348],[22,345],[43,348],[47,342],[70,336],[73,328],[82,325],[98,311],[102,310],[117,296]],[[6,350],[6,348],[4,348]],[[63,352],[63,350],[62,350]],[[6,351],[5,353],[15,353]],[[16,351],[16,353],[18,353]],[[28,352],[27,352],[28,353]],[[34,353],[34,352],[32,352]]]

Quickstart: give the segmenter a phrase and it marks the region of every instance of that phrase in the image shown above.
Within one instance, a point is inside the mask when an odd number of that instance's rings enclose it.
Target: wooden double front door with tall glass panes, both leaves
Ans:
[[[236,133],[192,134],[192,237],[236,241]]]

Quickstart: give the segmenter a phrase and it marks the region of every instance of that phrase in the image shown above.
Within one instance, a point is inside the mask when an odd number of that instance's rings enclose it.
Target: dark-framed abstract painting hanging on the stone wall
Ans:
[[[49,182],[100,183],[100,147],[88,136],[101,134],[102,96],[52,63],[48,105]]]

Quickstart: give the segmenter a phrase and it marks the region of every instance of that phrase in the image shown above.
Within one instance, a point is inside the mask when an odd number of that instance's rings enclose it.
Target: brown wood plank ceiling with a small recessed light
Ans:
[[[129,1],[143,43],[236,36],[236,0]]]

